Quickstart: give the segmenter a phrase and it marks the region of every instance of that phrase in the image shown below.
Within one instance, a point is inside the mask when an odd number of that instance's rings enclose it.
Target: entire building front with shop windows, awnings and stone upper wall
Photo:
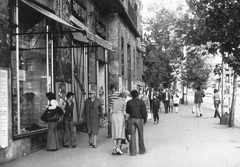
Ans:
[[[47,92],[58,101],[75,93],[80,130],[90,89],[107,113],[112,84],[119,91],[143,85],[139,1],[0,3],[0,165],[46,147],[47,124],[40,117]]]

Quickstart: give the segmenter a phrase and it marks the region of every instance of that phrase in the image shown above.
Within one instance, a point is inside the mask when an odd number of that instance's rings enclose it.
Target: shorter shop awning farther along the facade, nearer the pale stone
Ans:
[[[90,41],[96,42],[98,45],[104,47],[105,49],[108,50],[112,50],[112,43],[102,39],[101,37],[99,37],[97,34],[93,34],[91,33],[88,28],[81,23],[78,19],[76,19],[74,16],[70,16],[70,20],[77,25],[78,27],[80,27],[81,29],[85,30],[86,32],[86,36]]]

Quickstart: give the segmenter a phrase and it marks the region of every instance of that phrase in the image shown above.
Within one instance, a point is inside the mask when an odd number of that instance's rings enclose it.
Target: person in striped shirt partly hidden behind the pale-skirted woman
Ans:
[[[118,99],[118,95],[119,93],[117,92],[117,87],[115,85],[111,86],[111,94],[109,94],[108,96],[108,104],[109,104],[109,108],[108,108],[108,136],[107,138],[111,138],[112,137],[112,130],[111,130],[111,109],[112,109],[112,103],[114,99]]]

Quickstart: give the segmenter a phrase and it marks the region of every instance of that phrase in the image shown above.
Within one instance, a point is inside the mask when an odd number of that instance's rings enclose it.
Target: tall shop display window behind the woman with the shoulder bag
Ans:
[[[13,21],[18,26],[11,43],[14,136],[47,128],[40,117],[47,105],[45,95],[53,90],[50,26],[45,17],[22,3],[17,10]]]

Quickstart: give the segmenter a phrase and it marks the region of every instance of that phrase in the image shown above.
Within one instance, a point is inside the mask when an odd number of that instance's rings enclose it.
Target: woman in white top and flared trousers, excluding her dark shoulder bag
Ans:
[[[46,94],[48,105],[46,108],[51,112],[56,112],[58,102],[52,92]],[[59,149],[57,125],[59,120],[48,122],[47,151],[56,151]]]

